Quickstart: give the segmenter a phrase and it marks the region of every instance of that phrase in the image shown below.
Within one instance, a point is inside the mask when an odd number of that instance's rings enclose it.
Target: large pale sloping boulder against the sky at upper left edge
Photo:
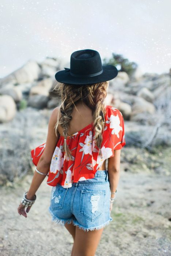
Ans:
[[[30,60],[21,68],[0,79],[0,84],[6,83],[28,83],[39,78],[41,69],[36,61]]]

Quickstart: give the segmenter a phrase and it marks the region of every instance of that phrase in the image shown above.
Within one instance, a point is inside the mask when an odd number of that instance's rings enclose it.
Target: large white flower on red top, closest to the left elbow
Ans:
[[[56,147],[50,164],[50,172],[57,173],[57,171],[60,171],[63,163],[64,158],[62,157],[62,152],[59,147]]]

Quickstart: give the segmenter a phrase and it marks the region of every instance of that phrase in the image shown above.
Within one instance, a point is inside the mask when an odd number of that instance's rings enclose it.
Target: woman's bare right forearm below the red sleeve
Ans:
[[[121,149],[114,150],[114,156],[108,158],[108,176],[110,183],[110,191],[115,192],[117,189],[117,185],[119,182],[120,176],[120,157],[121,157]],[[112,194],[111,197],[115,197],[115,194]]]

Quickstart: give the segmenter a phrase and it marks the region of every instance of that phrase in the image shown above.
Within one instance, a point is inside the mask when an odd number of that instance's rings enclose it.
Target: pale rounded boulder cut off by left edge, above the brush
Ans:
[[[16,105],[9,95],[0,95],[0,123],[8,122],[15,117]]]

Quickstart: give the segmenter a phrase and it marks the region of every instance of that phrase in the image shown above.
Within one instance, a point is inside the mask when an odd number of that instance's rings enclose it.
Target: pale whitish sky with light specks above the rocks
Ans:
[[[122,54],[142,73],[168,73],[170,10],[170,0],[1,0],[0,78],[28,60],[69,63],[80,49],[102,60]]]

